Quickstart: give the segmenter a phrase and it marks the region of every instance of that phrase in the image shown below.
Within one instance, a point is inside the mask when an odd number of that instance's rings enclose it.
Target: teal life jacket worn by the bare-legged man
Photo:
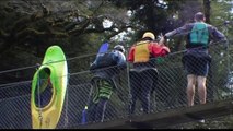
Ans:
[[[191,45],[203,45],[207,46],[209,41],[209,32],[206,23],[195,23],[190,32],[190,44]]]

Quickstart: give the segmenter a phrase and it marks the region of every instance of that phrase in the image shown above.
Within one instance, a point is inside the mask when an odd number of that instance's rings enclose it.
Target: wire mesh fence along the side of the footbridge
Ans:
[[[145,99],[150,99],[148,111],[152,114],[186,107],[187,80],[182,63],[184,52],[185,51],[171,53],[167,57],[155,59],[158,61],[156,71],[148,70],[147,73],[137,74],[137,72],[133,72],[131,64],[128,64],[125,70],[121,70],[119,74],[114,78],[116,88],[113,90],[114,93],[106,105],[104,121],[113,121],[130,116],[129,112],[132,98],[131,87],[133,81],[140,84],[145,83],[145,85],[149,86],[151,84],[152,88],[149,96],[144,95],[142,90],[136,88],[133,91],[142,93],[143,95],[137,97],[132,115],[140,116],[145,114],[145,108],[143,107],[147,105],[142,103],[145,102]],[[230,50],[223,50],[221,45],[210,46],[209,52],[212,56],[212,61],[207,76],[207,103],[232,98],[232,52]],[[69,73],[61,117],[57,126],[58,129],[83,124],[83,110],[85,106],[88,106],[88,110],[91,109],[90,103],[93,100],[94,92],[97,91],[91,83],[94,74],[89,71],[90,61],[92,61],[94,57],[95,56],[89,56],[88,58],[82,58],[82,60],[68,61],[69,64],[85,63],[86,66],[82,64],[82,71]],[[113,68],[113,70],[118,70],[115,67],[110,68]],[[72,69],[69,71],[74,70]],[[136,73],[136,75],[133,73]],[[32,128],[31,92],[32,81],[0,85],[1,129]],[[35,95],[39,95],[39,93]],[[51,100],[51,96],[53,95],[49,96],[49,102]],[[43,97],[39,98],[43,99]],[[195,105],[197,104],[199,104],[199,100],[198,91],[196,88]],[[90,116],[93,115],[89,114],[88,118]],[[90,121],[88,118],[85,121],[86,123],[98,122]]]

